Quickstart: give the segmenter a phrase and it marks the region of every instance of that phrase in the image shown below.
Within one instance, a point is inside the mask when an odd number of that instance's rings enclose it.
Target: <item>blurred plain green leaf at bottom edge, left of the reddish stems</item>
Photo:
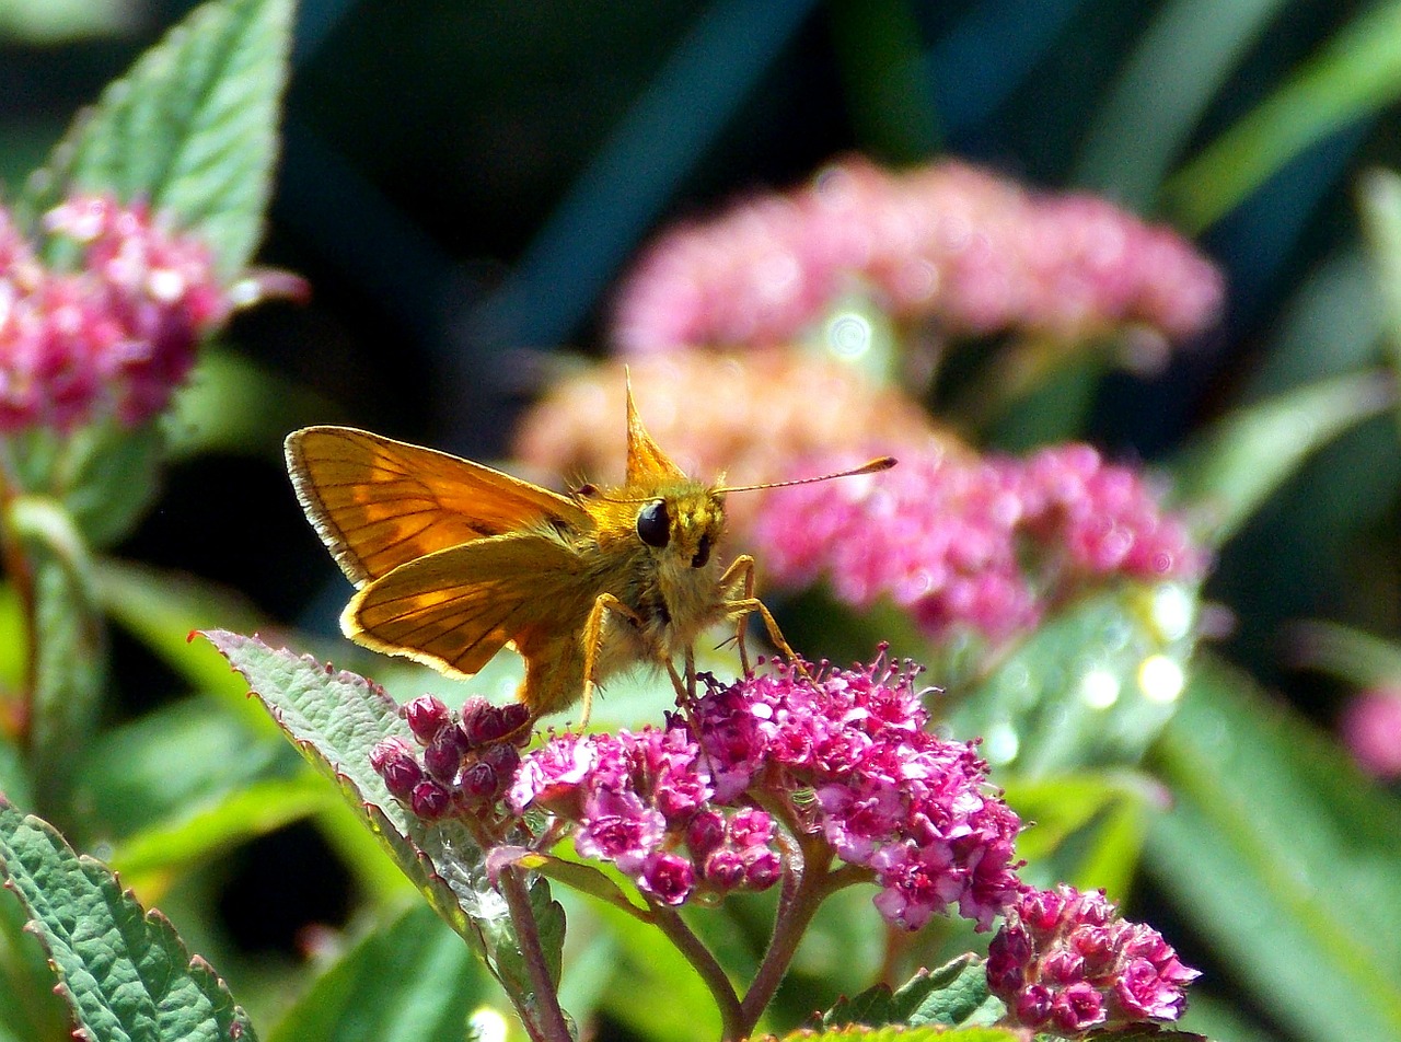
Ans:
[[[422,903],[346,950],[283,1014],[269,1042],[461,1042],[489,978]]]

